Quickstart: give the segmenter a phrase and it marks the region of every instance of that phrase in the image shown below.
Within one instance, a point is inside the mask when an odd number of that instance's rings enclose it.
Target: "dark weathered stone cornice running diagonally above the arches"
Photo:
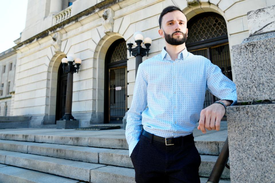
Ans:
[[[14,50],[17,50],[17,48],[25,45],[25,44],[28,44],[28,43],[31,43],[33,42],[34,40],[38,40],[38,39],[41,39],[43,37],[46,37],[48,36],[50,33],[53,33],[55,32],[57,29],[62,29],[64,27],[64,25],[67,25],[73,21],[78,21],[79,18],[83,17],[83,16],[87,16],[87,15],[91,15],[91,14],[94,14],[100,10],[103,10],[107,7],[110,7],[111,5],[114,5],[118,2],[121,2],[123,0],[104,0],[100,3],[97,3],[96,5],[92,6],[92,7],[89,7],[88,9],[85,9],[84,11],[81,11],[80,13],[34,35],[33,37],[30,37],[29,39],[19,43],[18,45],[15,45],[14,47],[12,47],[11,49],[14,49]]]

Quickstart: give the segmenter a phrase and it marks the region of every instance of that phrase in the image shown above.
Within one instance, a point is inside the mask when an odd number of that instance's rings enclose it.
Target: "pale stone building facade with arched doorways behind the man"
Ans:
[[[126,43],[134,43],[133,34],[142,31],[152,39],[143,60],[159,54],[164,39],[158,34],[158,18],[168,5],[180,7],[188,19],[188,51],[216,61],[234,81],[231,48],[249,36],[247,12],[274,4],[272,0],[29,0],[21,41],[13,47],[17,54],[0,57],[6,67],[7,62],[16,63],[14,105],[8,114],[32,116],[33,127],[55,124],[62,117],[66,94],[61,59],[74,53],[82,64],[74,74],[73,116],[81,127],[120,122],[131,107],[135,84],[135,57],[127,52]],[[6,77],[2,73],[2,82],[10,81],[11,87],[13,81],[3,80]],[[213,100],[212,96],[209,102]]]

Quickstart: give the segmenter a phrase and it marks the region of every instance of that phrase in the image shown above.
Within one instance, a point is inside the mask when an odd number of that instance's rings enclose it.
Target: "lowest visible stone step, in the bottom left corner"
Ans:
[[[0,164],[0,182],[3,183],[80,183],[79,180],[60,177],[52,174],[42,173],[34,170],[28,170],[25,168],[19,168],[15,166],[8,166]]]

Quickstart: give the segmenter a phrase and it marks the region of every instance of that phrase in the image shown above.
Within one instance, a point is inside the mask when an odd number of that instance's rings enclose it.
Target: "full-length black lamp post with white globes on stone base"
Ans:
[[[72,116],[72,85],[73,74],[78,73],[81,59],[76,58],[74,54],[68,54],[61,60],[63,72],[68,74],[66,104],[64,116],[56,122],[57,128],[79,128],[79,121]],[[68,66],[67,66],[68,65]],[[66,67],[67,66],[67,67]]]

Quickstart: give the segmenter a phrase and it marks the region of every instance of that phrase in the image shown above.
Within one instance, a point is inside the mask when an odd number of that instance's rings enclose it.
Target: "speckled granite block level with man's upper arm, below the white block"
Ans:
[[[238,102],[275,100],[275,37],[232,47]]]

